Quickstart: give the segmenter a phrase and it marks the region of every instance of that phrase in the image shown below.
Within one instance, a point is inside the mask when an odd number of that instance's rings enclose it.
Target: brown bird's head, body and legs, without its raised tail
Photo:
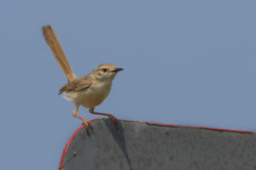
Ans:
[[[87,130],[91,127],[84,117],[79,116],[79,106],[89,108],[91,114],[108,116],[115,126],[118,125],[118,119],[108,113],[95,112],[95,107],[102,104],[103,100],[108,97],[112,87],[113,78],[123,68],[118,68],[112,64],[102,64],[96,67],[84,77],[79,77],[72,82],[67,82],[59,91],[63,97],[75,104],[73,116],[81,119]]]

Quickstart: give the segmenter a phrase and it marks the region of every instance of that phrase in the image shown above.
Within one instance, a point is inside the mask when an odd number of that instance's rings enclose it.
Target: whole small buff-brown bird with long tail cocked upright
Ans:
[[[79,106],[89,108],[91,114],[108,116],[118,127],[118,119],[109,113],[96,112],[95,107],[102,104],[103,100],[108,97],[112,87],[113,78],[119,71],[124,69],[118,68],[112,64],[102,64],[96,67],[84,77],[76,77],[73,69],[69,65],[66,54],[61,48],[61,43],[55,35],[55,31],[50,25],[42,26],[43,37],[45,42],[49,45],[51,52],[54,54],[55,59],[61,67],[64,75],[67,77],[67,84],[65,84],[59,91],[59,94],[73,102],[75,108],[73,116],[83,121],[87,133],[90,133],[90,122],[84,117],[79,116]]]

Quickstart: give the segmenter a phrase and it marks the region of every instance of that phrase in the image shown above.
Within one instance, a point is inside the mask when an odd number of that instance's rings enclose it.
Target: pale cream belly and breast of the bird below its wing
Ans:
[[[64,94],[63,97],[66,97],[66,99],[72,101],[73,103],[83,105],[87,108],[92,108],[96,105],[100,105],[103,100],[106,99],[110,89],[111,84],[104,86],[98,84],[77,92],[68,92]]]

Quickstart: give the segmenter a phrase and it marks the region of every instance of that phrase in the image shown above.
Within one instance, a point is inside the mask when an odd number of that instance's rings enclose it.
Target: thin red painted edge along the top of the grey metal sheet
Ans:
[[[102,119],[102,118],[96,118],[92,119],[89,122],[93,122],[95,120]],[[122,120],[126,121],[126,120]],[[133,121],[126,121],[126,122],[133,122]],[[147,123],[148,125],[157,125],[157,126],[164,126],[164,127],[183,127],[183,128],[201,128],[201,129],[208,129],[208,130],[215,130],[215,131],[224,131],[224,132],[231,132],[231,133],[247,133],[247,134],[253,134],[253,132],[250,131],[241,131],[241,130],[231,130],[231,129],[224,129],[224,128],[212,128],[212,127],[193,127],[193,126],[182,126],[182,125],[173,125],[173,124],[164,124],[164,123],[157,123],[157,122],[144,122]],[[81,128],[84,127],[84,123],[73,133],[70,139],[68,139],[67,144],[62,152],[61,156],[61,162],[60,162],[60,167],[59,170],[62,170],[63,163],[64,163],[64,158],[66,156],[67,148],[69,144],[72,142],[73,138],[75,135],[79,132]]]

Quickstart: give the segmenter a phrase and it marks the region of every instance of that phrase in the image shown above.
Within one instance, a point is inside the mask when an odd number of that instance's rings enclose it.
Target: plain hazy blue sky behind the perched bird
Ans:
[[[78,77],[125,68],[96,111],[119,119],[256,132],[255,1],[2,1],[1,169],[57,169],[81,125],[42,37],[50,24]],[[87,109],[79,114],[87,119]]]

